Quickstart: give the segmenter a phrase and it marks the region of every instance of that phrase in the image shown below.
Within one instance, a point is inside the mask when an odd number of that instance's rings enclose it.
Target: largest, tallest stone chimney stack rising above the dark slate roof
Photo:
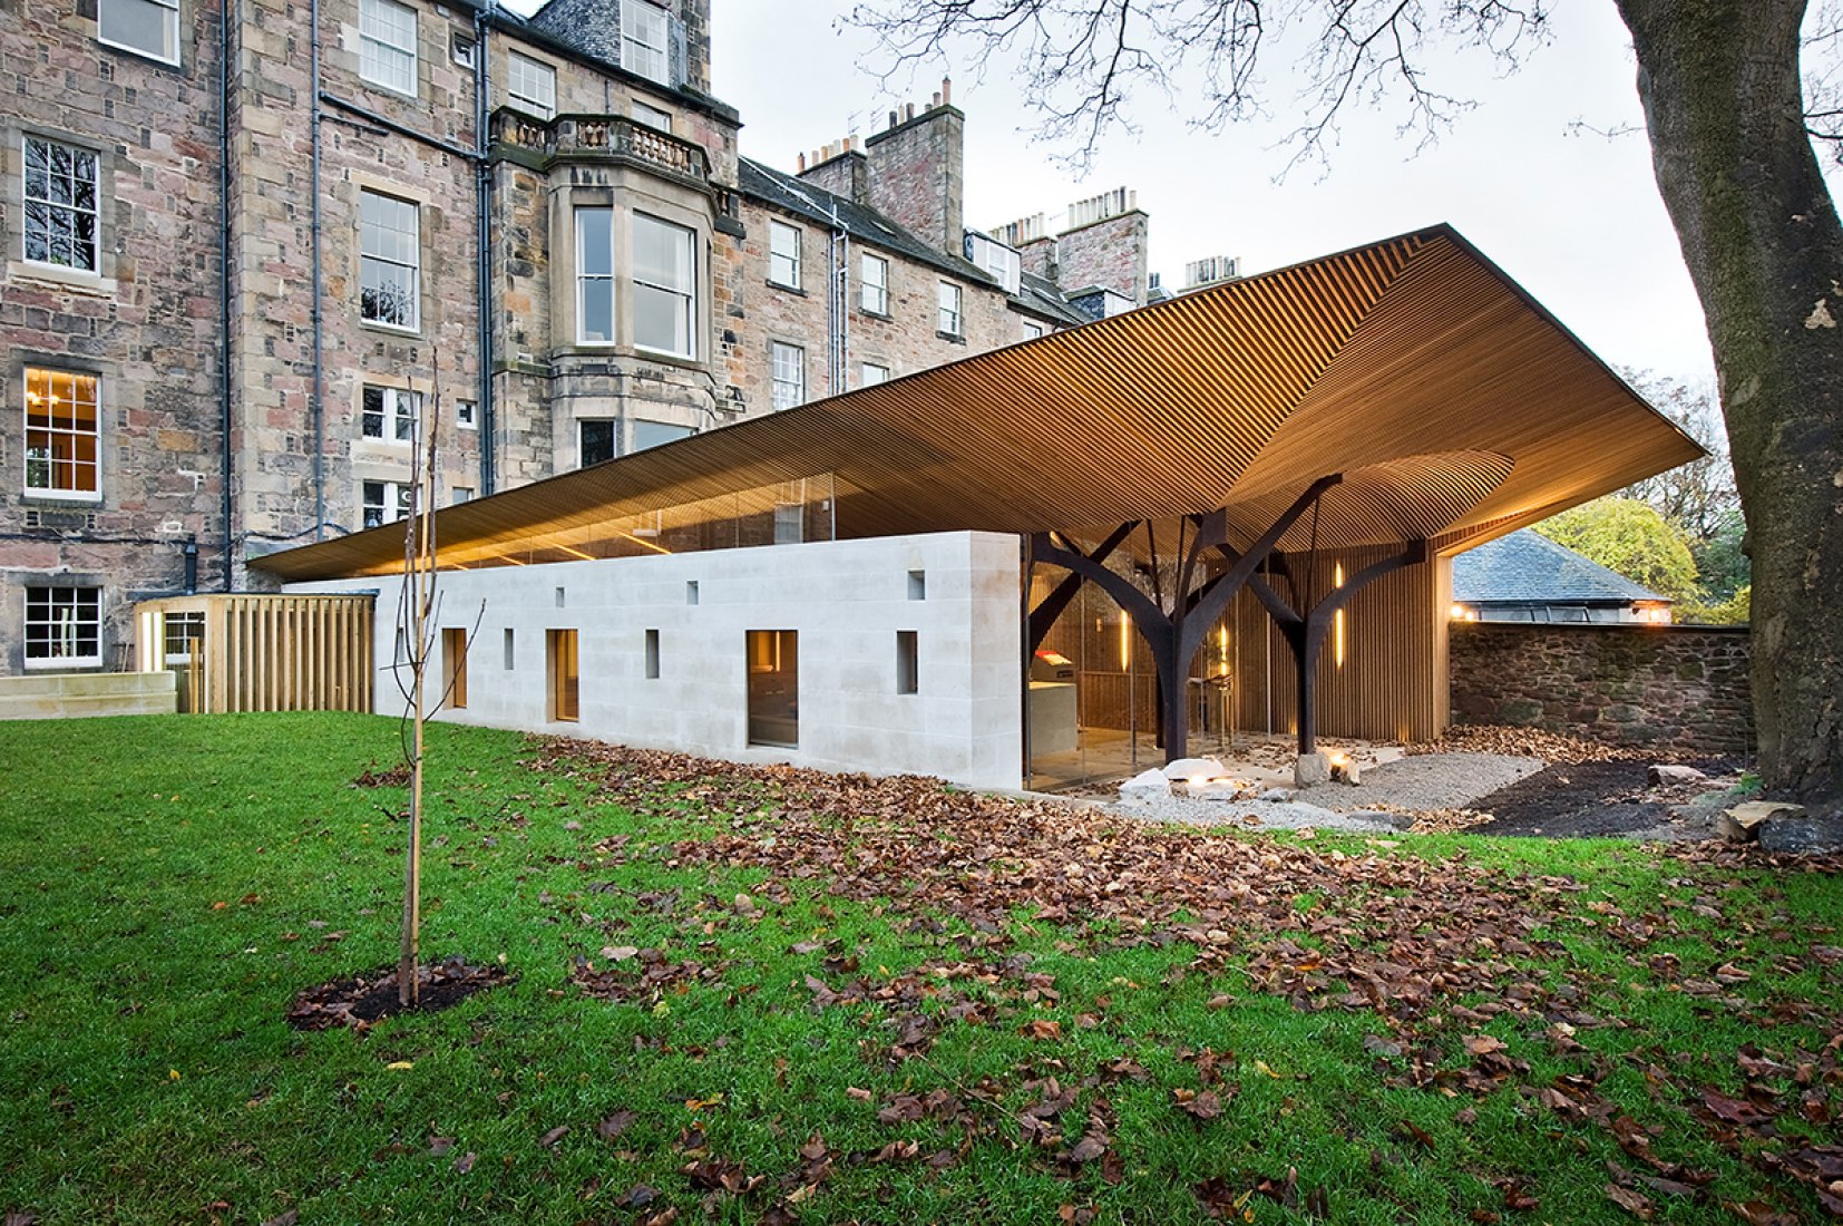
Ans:
[[[890,111],[890,125],[864,140],[870,205],[929,245],[960,253],[966,238],[966,116],[955,109],[953,83],[942,81],[934,105]]]

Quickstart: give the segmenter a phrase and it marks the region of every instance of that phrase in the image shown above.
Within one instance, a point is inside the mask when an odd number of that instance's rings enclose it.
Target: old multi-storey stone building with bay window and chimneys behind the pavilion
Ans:
[[[966,229],[945,85],[743,159],[708,0],[7,13],[0,675],[402,518],[431,433],[446,505],[1146,301],[1124,194]]]

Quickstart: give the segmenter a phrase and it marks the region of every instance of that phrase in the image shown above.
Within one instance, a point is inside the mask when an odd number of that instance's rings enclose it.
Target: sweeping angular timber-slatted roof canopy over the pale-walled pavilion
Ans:
[[[623,516],[828,476],[839,536],[1226,507],[1251,540],[1340,472],[1321,544],[1450,549],[1697,455],[1441,225],[450,507],[437,529],[448,566],[592,557]],[[385,525],[251,564],[391,573],[402,540]]]

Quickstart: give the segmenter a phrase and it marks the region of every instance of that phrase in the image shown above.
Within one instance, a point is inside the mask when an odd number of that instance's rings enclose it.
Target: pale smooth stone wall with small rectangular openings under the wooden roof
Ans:
[[[909,575],[925,575],[910,599]],[[686,584],[698,584],[697,605]],[[1019,560],[1015,536],[940,533],[722,549],[442,575],[444,625],[472,627],[468,706],[442,719],[586,736],[737,761],[938,774],[1017,787]],[[293,584],[289,592],[382,588],[378,710],[400,699],[391,583]],[[547,719],[546,631],[575,629],[581,719]],[[645,677],[645,632],[660,677]],[[800,747],[748,745],[746,631],[800,634]],[[920,691],[896,693],[896,632],[920,638]],[[507,664],[507,632],[511,662]],[[431,669],[439,677],[439,669]]]

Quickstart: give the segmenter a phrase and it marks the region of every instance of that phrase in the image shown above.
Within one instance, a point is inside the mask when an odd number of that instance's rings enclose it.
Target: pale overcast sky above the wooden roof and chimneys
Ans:
[[[711,90],[743,114],[743,153],[785,170],[802,149],[874,133],[896,98],[866,72],[872,42],[837,29],[848,0],[711,0]],[[1701,308],[1651,177],[1642,135],[1570,135],[1637,125],[1633,57],[1613,4],[1555,6],[1554,42],[1513,76],[1441,55],[1434,85],[1478,107],[1432,149],[1395,135],[1399,116],[1344,125],[1329,175],[1275,184],[1277,140],[1294,124],[1189,131],[1161,98],[1139,98],[1141,131],[1111,136],[1076,183],[1032,142],[1032,114],[1010,74],[953,70],[966,112],[966,219],[993,227],[1115,186],[1152,218],[1152,269],[1181,284],[1189,260],[1240,256],[1244,273],[1281,267],[1450,221],[1591,348],[1614,365],[1710,378]],[[1443,48],[1441,48],[1443,50]],[[1292,103],[1288,65],[1266,70],[1270,109]],[[903,96],[927,105],[923,74]]]

